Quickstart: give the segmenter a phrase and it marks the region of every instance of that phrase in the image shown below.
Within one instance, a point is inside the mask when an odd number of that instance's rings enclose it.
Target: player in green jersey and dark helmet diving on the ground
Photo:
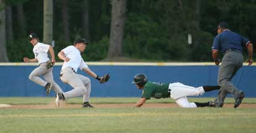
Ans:
[[[187,96],[203,95],[205,92],[220,89],[220,86],[192,87],[181,83],[166,84],[150,82],[143,73],[135,75],[132,83],[138,89],[143,89],[142,98],[135,104],[135,107],[141,107],[150,97],[154,97],[155,99],[171,97],[182,108],[215,107],[213,101],[206,103],[189,102]]]

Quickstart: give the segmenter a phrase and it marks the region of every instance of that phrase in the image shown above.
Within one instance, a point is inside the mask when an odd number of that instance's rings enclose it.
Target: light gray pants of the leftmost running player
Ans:
[[[47,83],[53,84],[53,90],[55,92],[62,93],[61,87],[57,83],[55,83],[53,79],[53,68],[46,68],[47,63],[40,63],[39,67],[35,68],[30,75],[29,79],[36,84],[39,84],[40,86],[46,86]],[[40,76],[42,76],[45,80],[41,79]]]

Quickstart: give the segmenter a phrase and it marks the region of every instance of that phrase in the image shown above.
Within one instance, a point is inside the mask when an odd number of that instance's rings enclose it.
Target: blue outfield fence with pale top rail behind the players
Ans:
[[[53,68],[54,80],[64,92],[72,89],[59,80],[61,63]],[[188,86],[216,85],[218,66],[213,63],[111,63],[88,62],[87,65],[98,75],[110,73],[108,83],[98,81],[83,71],[79,74],[88,76],[92,81],[91,97],[140,97],[142,91],[137,89],[132,80],[137,73],[145,73],[149,81],[174,83]],[[28,79],[37,67],[36,63],[1,63],[0,97],[46,97],[45,89]],[[234,76],[232,82],[245,92],[246,97],[256,97],[256,66],[244,64]],[[207,92],[200,97],[216,97],[218,91]],[[49,95],[54,96],[51,91]]]

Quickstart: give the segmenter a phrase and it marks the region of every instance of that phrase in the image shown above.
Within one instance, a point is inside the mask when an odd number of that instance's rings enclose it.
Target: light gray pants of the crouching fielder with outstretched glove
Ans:
[[[66,99],[83,95],[83,102],[89,102],[91,93],[91,81],[89,78],[76,74],[72,68],[67,67],[61,70],[61,81],[74,88],[63,93]]]

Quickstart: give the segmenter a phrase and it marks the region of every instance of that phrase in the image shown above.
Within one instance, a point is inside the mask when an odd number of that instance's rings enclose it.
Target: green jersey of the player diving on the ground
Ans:
[[[142,98],[150,99],[154,97],[155,99],[168,98],[170,94],[168,92],[169,84],[165,83],[155,83],[148,81],[142,92]]]

